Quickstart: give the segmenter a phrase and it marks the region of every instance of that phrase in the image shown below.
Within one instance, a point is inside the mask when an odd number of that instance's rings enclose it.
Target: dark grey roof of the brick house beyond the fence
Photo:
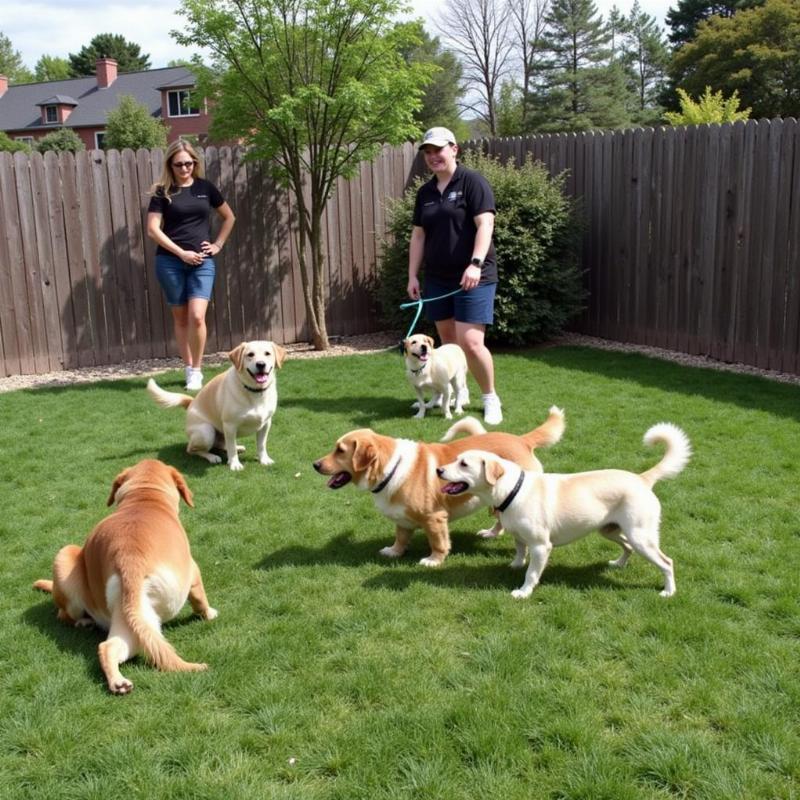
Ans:
[[[53,125],[42,124],[40,106],[73,103],[75,106],[65,127],[104,126],[108,112],[117,107],[122,95],[132,95],[149,109],[152,116],[160,118],[161,87],[186,88],[194,84],[194,76],[186,67],[122,72],[105,89],[97,85],[95,75],[63,81],[14,84],[0,97],[0,130],[52,129]]]

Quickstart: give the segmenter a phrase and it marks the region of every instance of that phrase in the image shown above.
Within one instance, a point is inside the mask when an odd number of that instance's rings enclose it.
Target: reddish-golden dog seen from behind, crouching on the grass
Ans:
[[[187,597],[204,619],[217,616],[178,519],[181,498],[194,507],[174,467],[145,460],[123,470],[108,498],[117,509],[95,526],[82,548],[70,544],[59,550],[53,580],[33,584],[52,592],[63,622],[108,631],[98,655],[114,694],[133,690],[119,665],[140,652],[161,670],[206,669],[184,661],[161,633],[161,623],[175,617]]]

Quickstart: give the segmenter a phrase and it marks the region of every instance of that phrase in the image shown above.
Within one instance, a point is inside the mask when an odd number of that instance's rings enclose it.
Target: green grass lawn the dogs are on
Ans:
[[[184,412],[145,379],[0,395],[0,797],[800,797],[800,388],[581,347],[496,368],[503,429],[566,411],[547,471],[643,471],[661,457],[649,426],[686,431],[692,461],[656,486],[675,597],[640,557],[607,568],[617,547],[590,536],[515,601],[513,542],[475,537],[484,511],[453,525],[437,570],[417,563],[422,533],[381,559],[392,524],[311,463],[352,428],[446,430],[438,411],[412,418],[396,353],[288,359],[276,464],[250,437],[241,473],[187,456]],[[114,697],[101,634],[58,623],[31,584],[152,457],[194,492],[182,519],[220,616],[187,606],[165,626],[207,672],[136,659]]]

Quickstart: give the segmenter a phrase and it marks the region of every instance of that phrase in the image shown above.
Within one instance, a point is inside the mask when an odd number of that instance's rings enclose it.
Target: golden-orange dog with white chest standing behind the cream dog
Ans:
[[[482,430],[480,423],[468,423],[469,419],[459,420],[450,432]],[[522,436],[492,431],[429,444],[394,439],[362,428],[340,437],[331,453],[314,462],[314,469],[331,476],[328,481],[331,489],[340,489],[353,481],[359,489],[369,491],[378,510],[395,523],[394,544],[384,547],[380,551],[382,556],[402,556],[414,529],[422,528],[431,553],[420,564],[436,567],[450,552],[449,521],[465,517],[481,506],[474,495],[443,494],[436,468],[465,450],[480,448],[525,469],[541,471],[534,448],[554,445],[563,432],[564,416],[555,407],[550,409],[546,422]]]

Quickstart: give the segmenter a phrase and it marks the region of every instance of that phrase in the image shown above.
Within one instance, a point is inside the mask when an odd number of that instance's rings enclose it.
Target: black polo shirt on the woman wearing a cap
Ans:
[[[458,284],[472,258],[475,217],[496,213],[494,194],[483,175],[461,164],[441,194],[436,183],[434,175],[419,187],[413,223],[425,231],[425,274]],[[481,269],[481,283],[497,283],[494,242]]]

